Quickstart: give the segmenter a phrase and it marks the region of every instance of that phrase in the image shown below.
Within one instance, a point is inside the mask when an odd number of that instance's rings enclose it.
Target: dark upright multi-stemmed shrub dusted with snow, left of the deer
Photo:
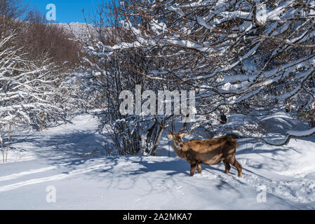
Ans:
[[[113,28],[112,36],[118,32]],[[135,85],[154,90],[152,83],[143,79],[143,74],[149,73],[152,59],[141,50],[122,50],[107,55],[102,41],[102,34],[82,40],[87,56],[83,58],[83,72],[76,74],[76,79],[80,80],[81,99],[86,102],[87,110],[103,111],[98,113],[102,117],[100,128],[112,139],[105,145],[107,155],[154,154],[161,128],[152,117],[122,116],[119,110],[119,95],[123,90],[135,93]]]

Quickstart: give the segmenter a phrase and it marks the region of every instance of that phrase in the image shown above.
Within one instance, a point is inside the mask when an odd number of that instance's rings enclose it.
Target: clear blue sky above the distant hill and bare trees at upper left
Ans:
[[[93,10],[102,3],[102,0],[24,0],[29,8],[36,7],[43,15],[46,15],[48,3],[56,6],[56,22],[84,22],[82,9],[86,16],[93,14]]]

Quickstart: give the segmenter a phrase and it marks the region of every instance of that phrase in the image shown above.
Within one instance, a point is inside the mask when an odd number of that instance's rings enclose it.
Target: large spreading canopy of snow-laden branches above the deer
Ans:
[[[99,11],[99,37],[86,45],[94,80],[107,86],[100,97],[109,99],[101,102],[105,108],[108,102],[116,105],[109,116],[118,113],[119,92],[138,84],[149,90],[196,90],[199,115],[255,116],[277,109],[314,121],[314,0],[139,0],[111,7]],[[113,27],[107,36],[106,16]],[[139,57],[142,62],[135,60]],[[250,125],[240,128],[250,132]],[[220,130],[224,126],[215,133]],[[256,124],[253,132],[260,136],[266,130]]]

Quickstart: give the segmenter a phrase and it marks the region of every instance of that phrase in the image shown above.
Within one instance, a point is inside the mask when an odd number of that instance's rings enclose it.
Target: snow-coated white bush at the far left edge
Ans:
[[[14,33],[0,36],[1,144],[16,127],[43,130],[52,120],[65,118],[69,109],[69,90],[56,67],[48,59],[25,59],[14,38]]]

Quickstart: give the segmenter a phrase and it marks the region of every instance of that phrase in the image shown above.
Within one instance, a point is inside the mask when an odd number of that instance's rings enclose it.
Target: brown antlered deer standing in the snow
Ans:
[[[168,139],[173,139],[173,146],[176,155],[179,158],[186,160],[190,165],[190,176],[194,176],[194,172],[197,171],[201,174],[201,164],[205,165],[217,165],[220,162],[224,163],[225,174],[229,173],[231,169],[230,165],[236,167],[238,176],[242,176],[242,166],[237,162],[235,158],[236,148],[239,146],[237,141],[232,137],[218,137],[216,139],[207,140],[190,140],[182,141],[182,138],[186,137],[188,133],[181,133],[185,130],[187,123],[184,124],[180,132],[175,133],[172,130],[168,130],[164,125],[159,123],[155,116],[156,123],[160,125],[163,130],[170,132],[167,135]]]

